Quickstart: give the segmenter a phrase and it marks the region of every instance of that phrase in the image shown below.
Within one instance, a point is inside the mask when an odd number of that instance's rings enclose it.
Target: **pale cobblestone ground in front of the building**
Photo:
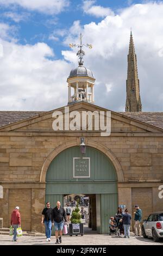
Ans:
[[[0,245],[55,245],[55,237],[52,236],[51,242],[46,241],[46,237],[22,236],[17,242],[12,242],[9,235],[0,235]],[[135,237],[131,234],[130,238],[123,238],[109,235],[88,234],[84,236],[63,236],[60,245],[162,245],[161,242],[153,242],[153,239]]]

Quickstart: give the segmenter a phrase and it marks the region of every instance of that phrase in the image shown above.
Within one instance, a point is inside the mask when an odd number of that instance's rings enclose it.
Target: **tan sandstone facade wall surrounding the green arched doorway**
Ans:
[[[70,106],[70,111],[84,109],[106,110],[86,102]],[[64,108],[57,110],[64,112]],[[5,113],[5,121],[10,117],[14,123],[0,129],[0,185],[4,193],[0,199],[0,215],[4,227],[9,227],[11,211],[19,205],[23,229],[42,231],[40,220],[45,206],[49,164],[63,150],[79,147],[80,137],[85,138],[86,147],[101,151],[114,165],[118,204],[125,204],[130,212],[134,204],[139,204],[143,218],[152,211],[163,210],[163,199],[158,196],[159,186],[163,184],[162,113],[155,113],[150,124],[150,113],[137,114],[139,119],[143,115],[142,122],[131,113],[128,117],[124,113],[111,112],[111,135],[108,137],[101,137],[97,131],[54,131],[52,113],[34,113],[34,117],[26,116],[27,119],[16,122],[15,112]]]

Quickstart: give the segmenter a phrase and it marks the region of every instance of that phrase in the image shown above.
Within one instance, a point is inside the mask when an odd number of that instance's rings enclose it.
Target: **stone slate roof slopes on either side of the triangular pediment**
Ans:
[[[0,111],[0,127],[46,113],[40,111]],[[163,130],[163,112],[117,112]]]

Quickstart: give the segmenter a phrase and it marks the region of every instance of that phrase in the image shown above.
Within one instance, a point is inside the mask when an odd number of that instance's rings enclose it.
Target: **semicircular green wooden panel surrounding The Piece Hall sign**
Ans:
[[[78,180],[117,180],[115,168],[111,161],[100,151],[86,147],[86,154],[80,153],[79,147],[62,151],[52,160],[48,167],[46,181],[76,181],[73,178],[73,157],[90,157],[90,178]]]

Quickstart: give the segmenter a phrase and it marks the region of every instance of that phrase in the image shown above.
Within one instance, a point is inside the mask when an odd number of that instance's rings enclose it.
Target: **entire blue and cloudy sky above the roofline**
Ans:
[[[78,65],[69,43],[93,45],[84,64],[96,78],[95,103],[124,111],[132,27],[143,111],[163,111],[163,1],[0,0],[0,110],[67,104]]]

